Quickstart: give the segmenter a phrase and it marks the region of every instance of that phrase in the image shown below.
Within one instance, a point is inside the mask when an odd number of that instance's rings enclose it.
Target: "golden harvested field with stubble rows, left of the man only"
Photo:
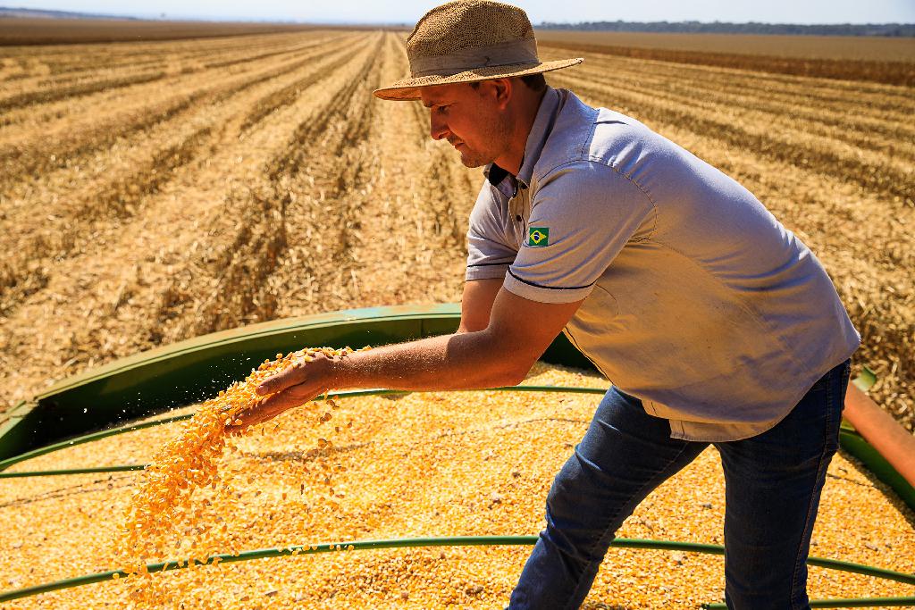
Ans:
[[[6,63],[0,104],[31,96],[0,115],[6,405],[220,328],[459,298],[479,173],[426,142],[418,105],[371,97],[404,70],[399,37],[315,30],[157,48],[20,48]],[[165,75],[40,94],[54,91],[48,74],[138,71]],[[14,359],[29,370],[7,368]]]

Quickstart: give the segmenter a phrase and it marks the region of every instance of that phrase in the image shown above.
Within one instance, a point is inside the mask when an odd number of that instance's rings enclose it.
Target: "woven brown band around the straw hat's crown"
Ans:
[[[477,68],[525,63],[540,63],[534,38],[511,40],[490,47],[459,48],[448,55],[411,58],[410,73],[414,79],[422,76],[454,76]]]

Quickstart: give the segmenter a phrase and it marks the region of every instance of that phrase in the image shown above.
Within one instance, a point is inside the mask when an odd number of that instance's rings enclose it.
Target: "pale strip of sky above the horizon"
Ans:
[[[510,0],[511,1],[511,0]],[[0,5],[107,15],[167,16],[243,21],[400,23],[413,25],[441,0],[0,0]],[[761,21],[767,23],[915,23],[915,0],[529,0],[534,25],[579,21]]]

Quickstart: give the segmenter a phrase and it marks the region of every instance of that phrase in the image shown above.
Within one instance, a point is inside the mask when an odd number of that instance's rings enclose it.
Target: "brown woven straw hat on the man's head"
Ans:
[[[426,13],[406,40],[410,78],[375,91],[382,100],[418,100],[421,87],[504,79],[575,66],[541,61],[531,21],[517,6],[457,0]]]

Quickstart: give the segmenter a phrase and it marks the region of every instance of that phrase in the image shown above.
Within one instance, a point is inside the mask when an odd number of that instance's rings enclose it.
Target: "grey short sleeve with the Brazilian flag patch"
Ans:
[[[527,239],[504,287],[541,303],[584,299],[653,219],[651,198],[613,167],[588,160],[559,166],[533,192]]]

